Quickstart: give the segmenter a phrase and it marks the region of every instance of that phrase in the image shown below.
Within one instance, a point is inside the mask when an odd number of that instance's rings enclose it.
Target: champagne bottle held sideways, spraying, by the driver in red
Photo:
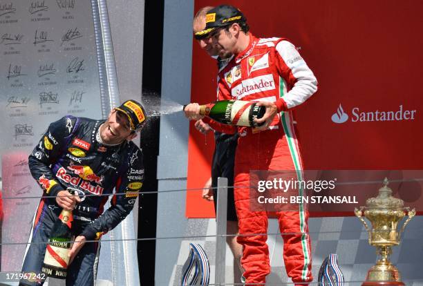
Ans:
[[[263,117],[266,108],[256,104],[257,102],[243,100],[220,100],[200,105],[200,115],[208,116],[223,124],[257,127],[263,125],[264,122],[256,124],[254,119]]]

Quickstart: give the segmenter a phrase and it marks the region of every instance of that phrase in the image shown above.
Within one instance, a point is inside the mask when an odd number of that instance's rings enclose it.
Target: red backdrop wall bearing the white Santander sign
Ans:
[[[228,0],[256,37],[286,37],[319,82],[296,110],[306,169],[423,169],[423,2],[406,0]],[[195,12],[216,1],[196,0]],[[194,41],[191,102],[216,99],[216,61]],[[331,117],[341,104],[348,120]],[[356,113],[415,111],[414,120],[353,122]],[[411,117],[411,114],[408,115]],[[210,175],[212,134],[190,125],[187,189]],[[200,191],[187,192],[187,217],[214,216]]]

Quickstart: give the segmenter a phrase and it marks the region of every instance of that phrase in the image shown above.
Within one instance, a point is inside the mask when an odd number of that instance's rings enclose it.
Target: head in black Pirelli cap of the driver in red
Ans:
[[[212,42],[214,50],[218,50],[218,56],[229,57],[237,53],[238,40],[245,39],[250,27],[243,13],[229,5],[220,5],[209,10],[205,16],[206,26],[200,32],[195,33],[196,39],[207,39]]]

